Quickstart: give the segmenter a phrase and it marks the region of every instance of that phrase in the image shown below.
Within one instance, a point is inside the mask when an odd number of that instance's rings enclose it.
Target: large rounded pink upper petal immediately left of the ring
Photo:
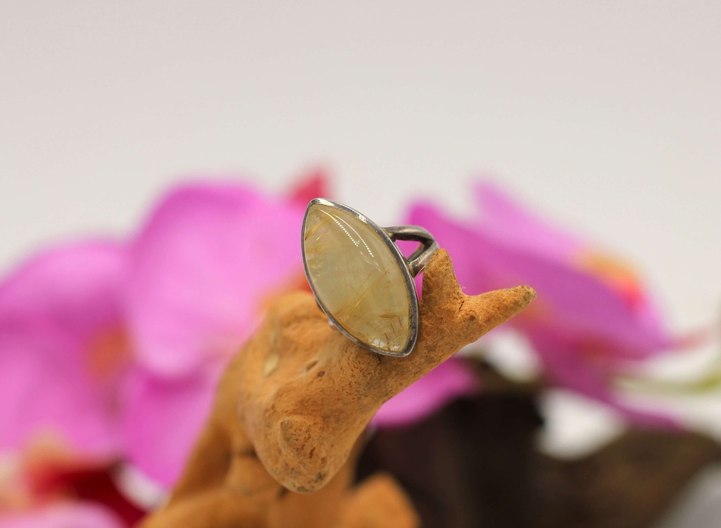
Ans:
[[[302,276],[303,213],[234,183],[167,196],[133,247],[128,317],[141,364],[184,376],[238,350],[267,296]]]

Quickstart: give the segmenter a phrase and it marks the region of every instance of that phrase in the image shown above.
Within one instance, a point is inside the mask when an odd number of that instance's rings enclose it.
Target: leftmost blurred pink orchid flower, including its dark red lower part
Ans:
[[[110,528],[142,514],[110,478],[130,358],[125,259],[117,242],[62,245],[0,285],[0,454],[13,461],[0,478],[0,527]]]

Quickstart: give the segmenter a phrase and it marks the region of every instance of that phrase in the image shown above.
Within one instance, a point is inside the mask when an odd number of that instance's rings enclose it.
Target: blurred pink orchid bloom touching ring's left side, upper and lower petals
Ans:
[[[185,185],[133,242],[124,289],[136,352],[124,395],[126,454],[160,483],[177,478],[221,370],[267,305],[304,287],[304,198],[270,198],[236,182]]]

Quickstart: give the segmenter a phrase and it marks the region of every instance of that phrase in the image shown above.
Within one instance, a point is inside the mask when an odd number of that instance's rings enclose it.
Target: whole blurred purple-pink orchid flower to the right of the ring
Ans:
[[[549,379],[637,422],[671,426],[611,390],[614,373],[673,345],[637,277],[492,185],[478,185],[476,198],[477,219],[454,219],[423,202],[412,206],[408,223],[424,226],[448,249],[466,293],[519,283],[536,289],[538,299],[509,325],[531,340]]]

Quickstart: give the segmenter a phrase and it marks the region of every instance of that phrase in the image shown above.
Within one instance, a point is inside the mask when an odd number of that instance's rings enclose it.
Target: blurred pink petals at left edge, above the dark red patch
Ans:
[[[112,356],[125,261],[109,242],[32,259],[0,286],[0,449],[34,434],[92,455],[116,447]]]

